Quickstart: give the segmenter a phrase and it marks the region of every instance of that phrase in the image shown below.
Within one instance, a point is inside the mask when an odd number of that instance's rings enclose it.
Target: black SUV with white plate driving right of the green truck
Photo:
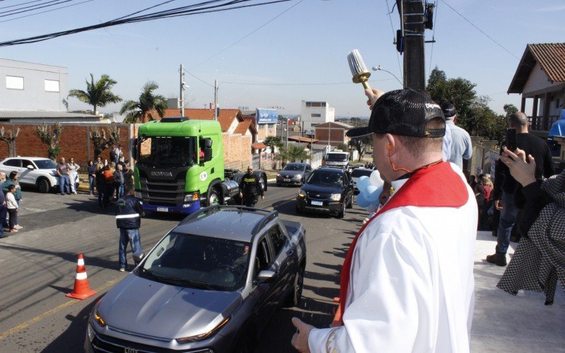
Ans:
[[[343,169],[318,168],[306,180],[296,197],[296,211],[335,213],[345,216],[353,206],[353,183]]]

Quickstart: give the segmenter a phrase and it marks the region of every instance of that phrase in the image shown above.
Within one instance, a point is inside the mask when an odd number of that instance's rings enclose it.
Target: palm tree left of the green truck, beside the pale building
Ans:
[[[112,80],[106,74],[100,76],[100,80],[95,81],[94,75],[90,73],[90,82],[86,80],[86,90],[71,90],[69,97],[76,97],[81,102],[92,105],[94,114],[97,115],[98,107],[105,107],[108,103],[121,102],[121,97],[112,93],[112,87],[116,83],[117,81]]]

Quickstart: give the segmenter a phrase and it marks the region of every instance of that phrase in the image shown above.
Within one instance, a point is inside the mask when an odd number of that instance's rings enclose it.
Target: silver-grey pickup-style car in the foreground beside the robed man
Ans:
[[[86,351],[251,352],[273,311],[300,300],[304,240],[276,211],[197,211],[95,305]]]

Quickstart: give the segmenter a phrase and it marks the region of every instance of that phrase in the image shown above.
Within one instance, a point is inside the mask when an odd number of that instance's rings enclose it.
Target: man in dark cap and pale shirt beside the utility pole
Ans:
[[[464,128],[455,124],[457,114],[453,104],[444,104],[441,110],[446,117],[446,130],[449,129],[451,135],[451,155],[448,161],[463,170],[463,159],[469,160],[472,157],[471,137]]]

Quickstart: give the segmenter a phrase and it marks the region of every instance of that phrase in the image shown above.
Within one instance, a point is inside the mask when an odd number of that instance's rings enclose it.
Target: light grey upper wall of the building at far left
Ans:
[[[7,89],[6,76],[23,77],[23,90]],[[0,59],[0,109],[64,111],[67,76],[64,67]],[[59,81],[59,92],[47,92],[45,80]]]

